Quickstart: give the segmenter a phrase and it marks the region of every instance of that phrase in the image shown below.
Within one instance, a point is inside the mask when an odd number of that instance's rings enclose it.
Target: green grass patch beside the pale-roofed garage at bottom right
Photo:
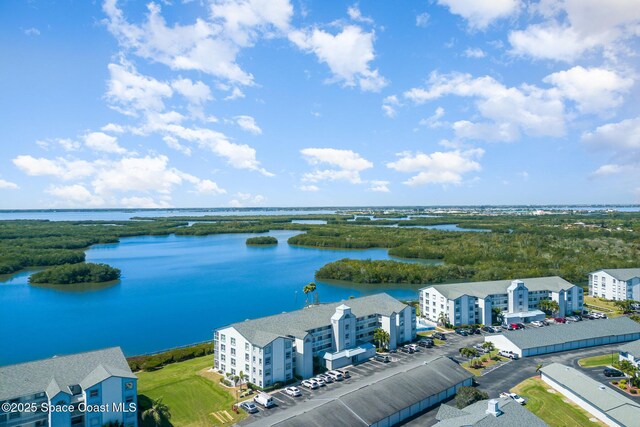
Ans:
[[[527,399],[525,408],[551,427],[604,426],[600,421],[590,421],[592,416],[588,412],[570,403],[562,394],[548,392],[548,389],[551,386],[539,378],[529,378],[511,391]]]

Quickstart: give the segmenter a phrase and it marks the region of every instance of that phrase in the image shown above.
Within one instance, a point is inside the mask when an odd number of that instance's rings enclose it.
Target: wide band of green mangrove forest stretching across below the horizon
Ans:
[[[635,267],[640,259],[640,214],[569,213],[555,215],[439,214],[398,220],[403,213],[367,212],[379,221],[347,221],[353,215],[221,216],[145,218],[144,221],[0,221],[0,274],[27,267],[77,264],[84,250],[122,237],[177,234],[306,231],[290,244],[318,248],[387,248],[392,256],[439,259],[444,265],[339,261],[319,270],[319,278],[361,283],[443,283],[559,275],[586,284],[587,273]],[[362,212],[361,212],[362,213]],[[414,211],[412,213],[418,213]],[[423,212],[422,212],[423,213]],[[319,219],[326,225],[292,224]],[[187,221],[195,223],[188,226]],[[397,224],[398,227],[377,225]],[[458,224],[491,233],[446,232],[416,226]],[[620,310],[617,310],[620,311]]]

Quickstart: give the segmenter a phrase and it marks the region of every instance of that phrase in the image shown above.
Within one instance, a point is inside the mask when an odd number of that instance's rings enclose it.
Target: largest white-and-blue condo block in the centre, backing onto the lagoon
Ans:
[[[378,328],[391,349],[415,339],[415,308],[382,293],[234,323],[214,332],[214,368],[242,372],[259,387],[309,378],[314,365],[337,369],[372,357]]]

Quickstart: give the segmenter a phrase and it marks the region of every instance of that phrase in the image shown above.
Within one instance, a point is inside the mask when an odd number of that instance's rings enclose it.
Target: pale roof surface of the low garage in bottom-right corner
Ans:
[[[605,412],[620,425],[638,425],[640,404],[633,400],[589,378],[577,369],[560,363],[544,366],[541,371],[543,375]]]

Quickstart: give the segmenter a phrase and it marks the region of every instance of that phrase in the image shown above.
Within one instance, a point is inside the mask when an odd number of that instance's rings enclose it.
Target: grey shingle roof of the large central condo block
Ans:
[[[245,320],[229,326],[235,328],[252,344],[262,347],[281,336],[292,335],[304,338],[309,330],[330,325],[331,316],[335,313],[336,308],[343,304],[351,307],[351,313],[356,317],[371,314],[388,316],[394,312],[398,313],[406,307],[405,304],[392,296],[380,293],[331,304],[314,305],[274,316]]]

